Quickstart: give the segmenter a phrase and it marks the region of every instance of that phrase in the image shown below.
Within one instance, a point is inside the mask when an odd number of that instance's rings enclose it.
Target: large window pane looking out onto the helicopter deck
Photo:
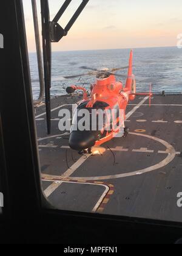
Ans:
[[[24,0],[24,12],[36,100],[39,74],[31,2]],[[63,2],[49,1],[51,20]],[[59,21],[62,27],[79,2],[69,5]],[[89,1],[67,37],[52,44],[50,135],[44,99],[35,105],[35,121],[42,187],[56,208],[182,221],[180,6],[179,0],[138,0],[132,5]],[[41,38],[39,1],[37,8]],[[110,75],[118,82],[116,91],[122,82],[121,93],[108,90],[107,85],[113,84]],[[67,94],[66,88],[73,85],[79,90],[73,87],[73,93]],[[86,99],[85,90],[90,88]],[[105,130],[106,118],[101,133],[78,130],[73,134],[71,124],[77,126],[81,120],[73,116],[75,104],[84,109],[90,104],[89,118],[83,122],[87,127],[91,127],[92,109],[116,109],[117,117],[124,109],[122,137]]]

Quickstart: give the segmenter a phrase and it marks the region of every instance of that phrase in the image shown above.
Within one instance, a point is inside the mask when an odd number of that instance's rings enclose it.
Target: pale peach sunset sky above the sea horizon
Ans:
[[[82,0],[72,0],[59,20],[65,27]],[[35,52],[31,0],[23,0],[29,51]],[[37,0],[41,32],[40,1]],[[53,20],[64,0],[49,0]],[[181,0],[90,0],[53,51],[176,46],[182,33]]]

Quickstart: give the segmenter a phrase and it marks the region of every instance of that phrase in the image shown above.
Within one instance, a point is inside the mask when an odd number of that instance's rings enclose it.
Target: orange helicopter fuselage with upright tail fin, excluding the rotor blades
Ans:
[[[97,137],[96,140],[92,136],[92,133],[87,133],[86,137],[84,137],[84,134],[80,131],[72,132],[69,140],[70,148],[75,150],[79,150],[80,148],[81,151],[82,149],[92,148],[93,144],[94,146],[100,146],[101,144],[112,140],[112,138],[115,137],[117,133],[122,133],[121,128],[123,128],[123,132],[124,129],[126,129],[126,127],[124,126],[124,121],[126,121],[126,107],[128,102],[133,101],[136,95],[146,95],[151,98],[151,90],[150,93],[136,93],[135,76],[132,73],[132,58],[133,52],[131,51],[125,87],[123,87],[122,82],[116,81],[116,78],[113,74],[107,74],[106,72],[104,76],[101,73],[101,75],[98,77],[102,78],[97,78],[95,84],[91,85],[90,96],[88,96],[86,88],[76,87],[75,85],[67,88],[67,93],[73,93],[75,90],[83,90],[83,101],[80,105],[84,105],[85,103],[84,107],[86,108],[94,108],[96,102],[103,102],[103,105],[106,106],[104,107],[104,109],[106,110],[106,115],[108,115],[107,119],[109,120],[106,126],[103,127],[103,130],[100,131],[102,136]],[[111,130],[107,129],[107,126],[110,125],[109,114],[107,113],[110,113],[110,110],[116,110],[116,112],[122,111],[124,115],[122,116],[122,119],[118,114],[116,115],[116,118],[112,119],[112,124],[114,128]],[[83,144],[87,144],[87,147],[81,146]]]

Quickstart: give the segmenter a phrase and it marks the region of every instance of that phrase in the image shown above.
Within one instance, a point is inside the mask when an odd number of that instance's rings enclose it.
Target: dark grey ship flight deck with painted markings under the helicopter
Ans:
[[[182,192],[182,96],[154,96],[150,108],[144,98],[130,102],[129,136],[114,138],[94,156],[71,151],[69,133],[58,129],[59,110],[72,109],[79,100],[52,100],[50,136],[44,106],[36,108],[42,185],[49,201],[62,210],[182,221],[177,206]]]

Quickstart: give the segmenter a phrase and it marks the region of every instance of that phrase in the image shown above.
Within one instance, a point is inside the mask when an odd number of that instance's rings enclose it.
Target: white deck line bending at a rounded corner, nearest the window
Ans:
[[[52,180],[42,180],[42,181],[46,181],[46,182],[52,182]],[[95,213],[99,206],[101,205],[101,203],[103,202],[104,198],[107,196],[107,193],[109,192],[110,188],[107,186],[107,185],[104,185],[104,184],[95,184],[95,183],[89,183],[89,182],[67,182],[67,181],[62,181],[60,182],[60,180],[55,180],[53,183],[56,183],[59,187],[59,185],[61,185],[61,183],[74,183],[74,184],[82,184],[82,185],[94,185],[94,186],[101,186],[101,187],[104,187],[105,190],[104,190],[104,193],[101,195],[101,197],[99,197],[99,200],[98,202],[96,202],[96,205],[93,207],[93,210],[92,212]],[[56,187],[56,184],[55,184],[55,187]],[[53,187],[52,187],[53,188]],[[55,190],[54,190],[55,191]],[[47,196],[49,194],[52,194],[51,193],[52,191],[51,190],[45,190],[44,193],[45,193],[45,196]],[[47,196],[47,197],[49,197]]]

